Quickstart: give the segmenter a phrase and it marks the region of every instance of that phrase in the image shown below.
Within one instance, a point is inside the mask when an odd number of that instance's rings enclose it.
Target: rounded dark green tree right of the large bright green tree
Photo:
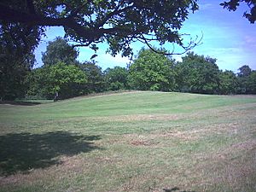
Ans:
[[[189,52],[177,62],[178,89],[193,93],[218,93],[218,66],[216,59]]]

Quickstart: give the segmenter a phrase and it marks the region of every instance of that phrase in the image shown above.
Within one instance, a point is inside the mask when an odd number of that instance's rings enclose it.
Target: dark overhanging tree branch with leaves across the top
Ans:
[[[66,37],[82,46],[97,49],[107,42],[109,52],[132,54],[131,42],[175,43],[184,51],[196,42],[183,43],[179,30],[189,12],[198,9],[197,0],[2,0],[1,22],[22,23],[45,29],[63,26]],[[43,30],[44,31],[44,30]],[[22,38],[26,39],[26,36]],[[152,48],[152,47],[151,47]]]

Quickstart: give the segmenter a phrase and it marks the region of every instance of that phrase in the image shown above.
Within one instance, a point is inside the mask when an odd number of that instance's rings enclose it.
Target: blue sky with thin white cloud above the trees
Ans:
[[[216,58],[219,69],[231,70],[236,73],[239,67],[248,65],[256,70],[256,23],[251,24],[242,16],[247,10],[247,5],[241,4],[236,12],[230,12],[219,5],[223,1],[200,0],[200,9],[189,15],[180,32],[189,33],[191,38],[196,38],[196,36],[201,38],[202,36],[201,44],[192,51],[197,55]],[[46,50],[47,43],[58,36],[64,37],[64,30],[61,26],[48,28],[46,37],[42,38],[35,50],[37,60],[35,67],[43,65],[42,52]],[[147,46],[142,43],[131,44],[135,55],[143,47]],[[99,44],[99,48],[95,61],[103,70],[115,66],[126,67],[130,62],[128,58],[121,55],[113,57],[107,54],[107,44]],[[167,45],[166,49],[172,50],[172,46]],[[91,55],[94,55],[93,50],[79,48],[79,61],[90,61]],[[172,57],[177,61],[182,61],[184,55],[173,55]]]

